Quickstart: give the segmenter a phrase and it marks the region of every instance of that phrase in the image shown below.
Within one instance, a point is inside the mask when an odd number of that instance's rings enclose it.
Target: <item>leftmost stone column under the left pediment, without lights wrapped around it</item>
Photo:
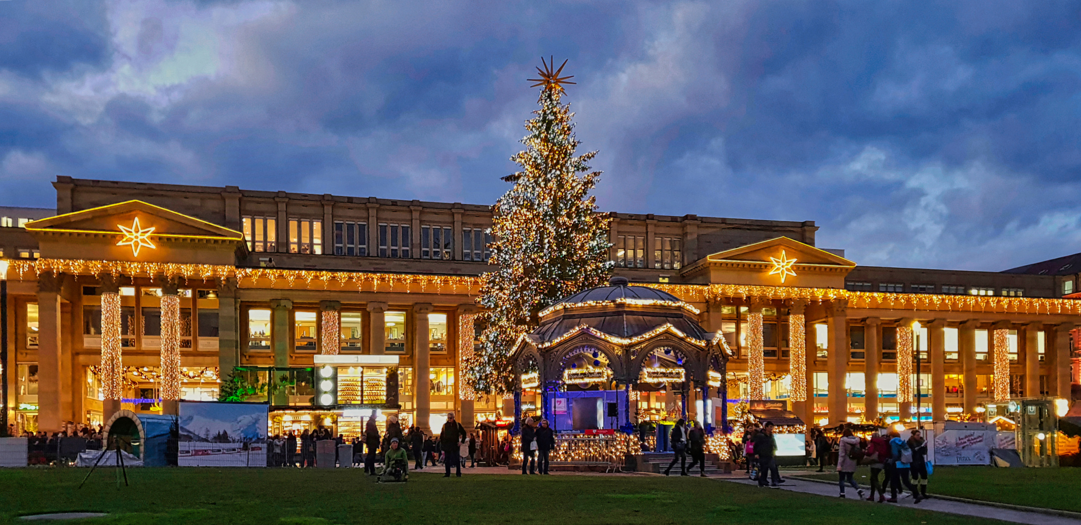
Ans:
[[[59,432],[61,286],[63,275],[38,275],[38,430]]]

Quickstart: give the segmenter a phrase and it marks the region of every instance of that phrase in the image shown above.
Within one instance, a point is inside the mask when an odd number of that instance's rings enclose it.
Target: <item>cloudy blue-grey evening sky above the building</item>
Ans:
[[[863,265],[1081,251],[1081,4],[0,1],[0,205],[56,175],[488,204],[540,55],[601,210]]]

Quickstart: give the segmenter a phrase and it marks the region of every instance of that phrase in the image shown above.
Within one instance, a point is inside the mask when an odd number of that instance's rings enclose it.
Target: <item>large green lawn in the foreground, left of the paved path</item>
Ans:
[[[359,469],[0,469],[0,523],[109,512],[109,524],[977,524],[986,520],[763,489],[700,477],[417,473],[375,484]]]

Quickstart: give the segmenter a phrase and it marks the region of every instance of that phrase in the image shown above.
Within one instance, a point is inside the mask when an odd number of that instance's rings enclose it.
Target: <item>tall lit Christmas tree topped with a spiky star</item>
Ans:
[[[542,59],[543,62],[543,59]],[[605,282],[612,264],[609,219],[589,196],[600,172],[587,162],[597,151],[575,157],[574,113],[560,105],[563,65],[537,68],[540,88],[533,119],[525,122],[525,150],[511,157],[521,171],[503,177],[515,186],[492,208],[492,257],[498,270],[483,275],[480,349],[467,363],[466,380],[478,392],[511,391],[510,351],[537,326],[537,312],[562,297]],[[582,175],[579,175],[582,174]]]

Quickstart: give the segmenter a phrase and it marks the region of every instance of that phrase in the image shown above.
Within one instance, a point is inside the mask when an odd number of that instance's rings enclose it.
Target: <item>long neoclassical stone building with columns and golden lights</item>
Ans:
[[[513,414],[461,379],[489,268],[485,205],[54,187],[55,213],[0,226],[19,429],[168,413],[223,390],[269,403],[275,432],[350,434],[372,408],[427,428],[449,412],[469,425]],[[1068,399],[1077,382],[1077,275],[862,267],[816,247],[813,221],[611,215],[614,273],[677,297],[728,356],[723,379],[652,373],[627,407],[638,417],[686,407],[716,421],[726,399],[785,400],[814,423],[962,419],[995,400]],[[525,388],[519,408],[540,402]]]

